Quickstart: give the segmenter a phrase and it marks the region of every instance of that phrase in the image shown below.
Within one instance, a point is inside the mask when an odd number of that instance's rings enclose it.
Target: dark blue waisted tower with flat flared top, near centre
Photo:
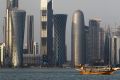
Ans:
[[[58,66],[62,66],[66,62],[66,14],[54,15],[54,53],[55,62]]]

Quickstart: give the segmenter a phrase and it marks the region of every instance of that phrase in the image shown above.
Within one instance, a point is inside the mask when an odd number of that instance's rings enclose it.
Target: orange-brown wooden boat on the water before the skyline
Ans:
[[[104,67],[86,67],[80,69],[80,74],[93,74],[93,75],[111,75],[115,70],[112,68]]]

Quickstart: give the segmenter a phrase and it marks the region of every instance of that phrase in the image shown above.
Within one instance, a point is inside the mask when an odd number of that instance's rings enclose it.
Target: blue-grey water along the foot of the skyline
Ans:
[[[0,80],[120,80],[112,75],[80,75],[74,69],[0,69]]]

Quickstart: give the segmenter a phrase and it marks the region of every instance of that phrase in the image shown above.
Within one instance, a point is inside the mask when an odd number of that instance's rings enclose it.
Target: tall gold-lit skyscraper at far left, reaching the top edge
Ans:
[[[12,13],[14,8],[18,8],[18,0],[7,0],[6,25],[5,25],[5,65],[12,66]]]

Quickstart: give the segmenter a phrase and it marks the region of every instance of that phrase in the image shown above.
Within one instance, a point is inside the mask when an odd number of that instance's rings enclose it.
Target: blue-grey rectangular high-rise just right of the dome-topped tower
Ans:
[[[89,21],[89,64],[94,64],[100,60],[100,19],[93,18]]]

